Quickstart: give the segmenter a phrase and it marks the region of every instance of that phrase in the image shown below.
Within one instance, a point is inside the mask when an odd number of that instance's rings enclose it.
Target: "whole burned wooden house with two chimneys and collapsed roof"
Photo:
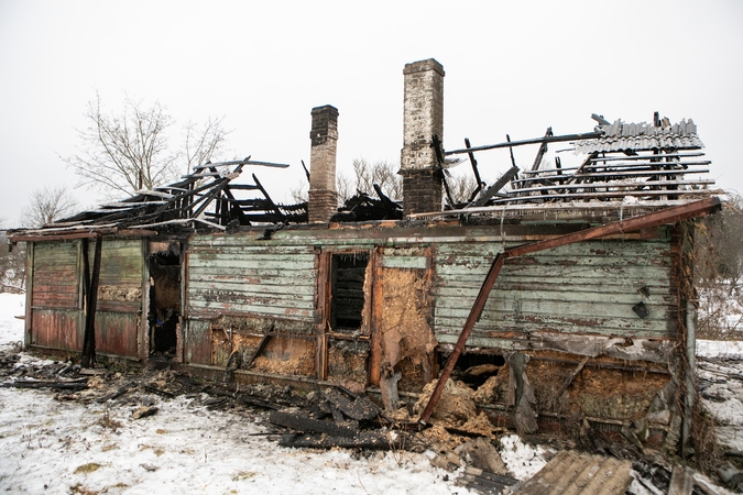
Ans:
[[[245,158],[15,231],[26,345],[214,378],[228,367],[240,383],[343,384],[390,408],[433,384],[422,422],[457,376],[490,384],[479,405],[493,424],[580,418],[642,442],[686,438],[687,254],[692,220],[720,207],[696,125],[596,117],[589,133],[446,151],[442,67],[416,62],[404,78],[402,205],[378,189],[338,210],[338,110],[318,107],[307,204],[245,182],[285,166]],[[556,142],[584,161],[545,166]],[[521,145],[538,147],[534,165],[481,182],[476,155]],[[465,157],[479,186],[457,204],[445,169]]]

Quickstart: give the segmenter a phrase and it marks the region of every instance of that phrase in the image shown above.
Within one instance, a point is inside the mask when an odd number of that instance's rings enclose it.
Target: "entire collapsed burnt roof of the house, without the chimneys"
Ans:
[[[703,160],[703,144],[691,120],[671,124],[667,118],[654,123],[627,123],[616,120],[599,121],[594,132],[586,134],[554,135],[551,128],[544,138],[509,141],[500,144],[470,146],[446,152],[433,136],[444,187],[448,199],[444,211],[431,211],[409,217],[435,217],[498,212],[505,209],[584,209],[622,205],[667,207],[687,200],[708,197],[720,191],[710,189],[713,179],[707,178],[710,161]],[[576,154],[584,161],[576,167],[562,167],[559,157],[555,165],[544,167],[544,156],[549,143],[570,142]],[[529,169],[512,167],[489,187],[481,183],[474,153],[494,148],[512,148],[539,144],[534,165]],[[472,166],[477,188],[469,201],[455,202],[448,195],[447,156],[467,154]],[[96,210],[55,221],[24,233],[36,235],[64,234],[75,231],[117,232],[157,228],[206,228],[226,230],[228,226],[288,224],[307,222],[307,202],[276,204],[255,174],[252,183],[239,184],[245,166],[286,168],[288,165],[270,162],[243,161],[207,163],[197,166],[182,180],[154,190],[142,190],[117,202],[101,205]],[[309,177],[309,173],[307,173]],[[400,202],[387,198],[380,187],[374,187],[376,198],[359,194],[338,209],[331,221],[368,221],[402,219]]]

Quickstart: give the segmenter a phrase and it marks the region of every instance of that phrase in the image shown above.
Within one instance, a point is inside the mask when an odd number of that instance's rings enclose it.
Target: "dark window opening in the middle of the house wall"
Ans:
[[[334,331],[352,333],[363,321],[363,284],[369,253],[332,255],[330,327]]]

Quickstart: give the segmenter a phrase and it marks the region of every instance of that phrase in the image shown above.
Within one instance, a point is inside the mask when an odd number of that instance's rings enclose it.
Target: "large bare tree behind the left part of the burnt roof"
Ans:
[[[185,127],[185,151],[168,144],[173,119],[159,101],[145,107],[124,97],[120,114],[103,110],[100,95],[88,103],[88,127],[78,130],[78,153],[62,160],[80,176],[80,185],[96,187],[110,196],[154,189],[178,177],[177,163],[185,158],[190,168],[217,153],[228,134],[222,119],[209,119],[203,127]]]

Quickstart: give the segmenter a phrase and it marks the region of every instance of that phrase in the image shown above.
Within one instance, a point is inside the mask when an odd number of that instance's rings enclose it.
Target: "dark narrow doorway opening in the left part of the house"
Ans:
[[[181,317],[181,246],[150,256],[150,353],[173,358]]]

